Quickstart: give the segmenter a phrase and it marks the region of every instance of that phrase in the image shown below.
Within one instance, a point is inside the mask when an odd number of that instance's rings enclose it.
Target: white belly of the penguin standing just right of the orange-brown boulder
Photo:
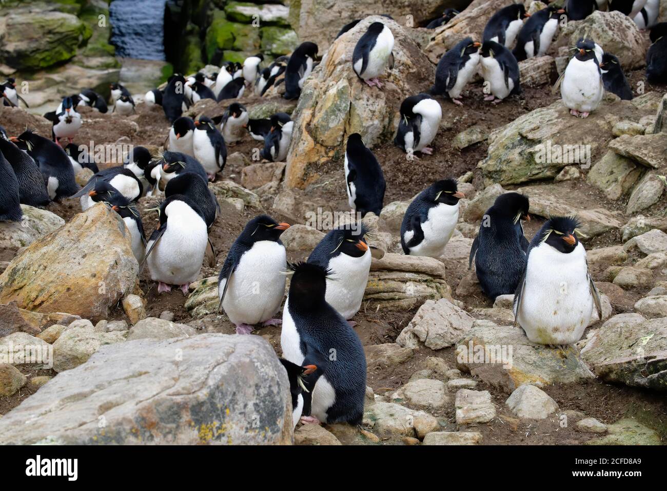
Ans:
[[[150,249],[153,240],[147,247]],[[197,279],[207,244],[206,224],[201,216],[169,218],[167,230],[146,262],[153,281],[167,285],[185,285]]]

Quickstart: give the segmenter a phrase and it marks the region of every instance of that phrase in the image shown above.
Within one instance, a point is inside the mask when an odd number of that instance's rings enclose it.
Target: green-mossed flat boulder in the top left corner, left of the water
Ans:
[[[40,69],[67,61],[92,31],[75,15],[63,12],[16,13],[0,18],[0,63]]]

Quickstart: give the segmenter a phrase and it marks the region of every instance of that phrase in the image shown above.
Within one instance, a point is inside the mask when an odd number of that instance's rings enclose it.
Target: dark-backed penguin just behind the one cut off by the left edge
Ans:
[[[47,206],[51,201],[35,161],[13,142],[0,136],[0,152],[5,156],[19,183],[19,202],[29,206]]]

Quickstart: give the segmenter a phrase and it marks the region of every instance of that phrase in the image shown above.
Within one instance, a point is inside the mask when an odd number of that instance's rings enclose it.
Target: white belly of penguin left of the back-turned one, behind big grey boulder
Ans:
[[[273,240],[255,242],[241,256],[229,280],[222,303],[229,320],[252,325],[271,319],[285,295],[286,265],[285,247],[281,244]],[[225,279],[218,287],[218,298],[224,287]]]

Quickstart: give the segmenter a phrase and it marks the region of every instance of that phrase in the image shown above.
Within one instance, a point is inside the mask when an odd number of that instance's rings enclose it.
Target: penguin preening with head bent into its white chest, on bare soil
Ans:
[[[436,138],[440,128],[440,103],[428,94],[410,96],[401,103],[400,114],[394,144],[409,154],[433,154],[433,149],[428,145]]]

